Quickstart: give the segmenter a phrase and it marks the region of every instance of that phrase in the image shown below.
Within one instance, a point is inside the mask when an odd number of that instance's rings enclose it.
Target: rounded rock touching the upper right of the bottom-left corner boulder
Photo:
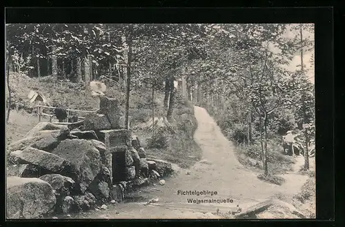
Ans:
[[[75,188],[75,181],[70,177],[65,177],[59,174],[48,174],[39,177],[43,181],[46,181],[52,186],[59,195],[70,195],[70,192]]]

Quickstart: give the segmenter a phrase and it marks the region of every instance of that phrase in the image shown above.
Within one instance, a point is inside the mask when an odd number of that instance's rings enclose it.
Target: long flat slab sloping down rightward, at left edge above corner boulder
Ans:
[[[65,159],[49,152],[28,147],[25,150],[16,150],[10,154],[10,160],[19,164],[32,164],[51,172],[61,172],[68,168]]]

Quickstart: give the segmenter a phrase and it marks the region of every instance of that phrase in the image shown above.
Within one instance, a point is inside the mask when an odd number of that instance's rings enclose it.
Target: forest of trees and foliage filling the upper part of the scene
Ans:
[[[284,36],[287,30],[294,37]],[[126,93],[127,117],[132,92],[150,88],[152,99],[164,96],[170,122],[177,82],[182,97],[206,108],[226,137],[262,160],[264,175],[270,143],[280,144],[290,130],[299,135],[308,170],[315,88],[304,53],[313,52],[314,41],[304,33],[313,30],[313,24],[6,24],[7,119],[17,101],[11,86],[20,86],[10,84],[10,71],[85,90],[102,81]],[[296,55],[297,69],[287,69]]]

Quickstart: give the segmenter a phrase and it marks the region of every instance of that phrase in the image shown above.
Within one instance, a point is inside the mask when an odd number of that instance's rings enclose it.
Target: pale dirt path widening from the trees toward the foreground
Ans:
[[[215,121],[204,108],[195,107],[198,128],[195,141],[203,150],[203,160],[190,170],[179,170],[179,174],[166,179],[164,186],[150,186],[139,193],[147,201],[159,198],[157,206],[144,206],[143,202],[110,205],[108,210],[93,211],[86,218],[98,219],[186,219],[209,218],[204,213],[228,212],[237,205],[246,208],[264,201],[276,193],[296,194],[307,176],[295,172],[283,175],[282,186],[268,184],[257,179],[257,172],[251,172],[239,164],[234,145],[221,133]],[[296,166],[300,163],[297,161]],[[297,169],[298,170],[298,169]],[[188,174],[187,174],[188,172]],[[181,191],[217,191],[217,195],[178,195]],[[233,199],[233,203],[190,204],[188,199]],[[119,212],[117,212],[119,211]],[[83,215],[79,215],[79,218]]]

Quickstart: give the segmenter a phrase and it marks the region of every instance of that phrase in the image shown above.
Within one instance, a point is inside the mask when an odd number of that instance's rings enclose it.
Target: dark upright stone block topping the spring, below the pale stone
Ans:
[[[117,99],[110,99],[105,96],[99,97],[99,114],[106,115],[111,128],[119,128],[121,113]]]

